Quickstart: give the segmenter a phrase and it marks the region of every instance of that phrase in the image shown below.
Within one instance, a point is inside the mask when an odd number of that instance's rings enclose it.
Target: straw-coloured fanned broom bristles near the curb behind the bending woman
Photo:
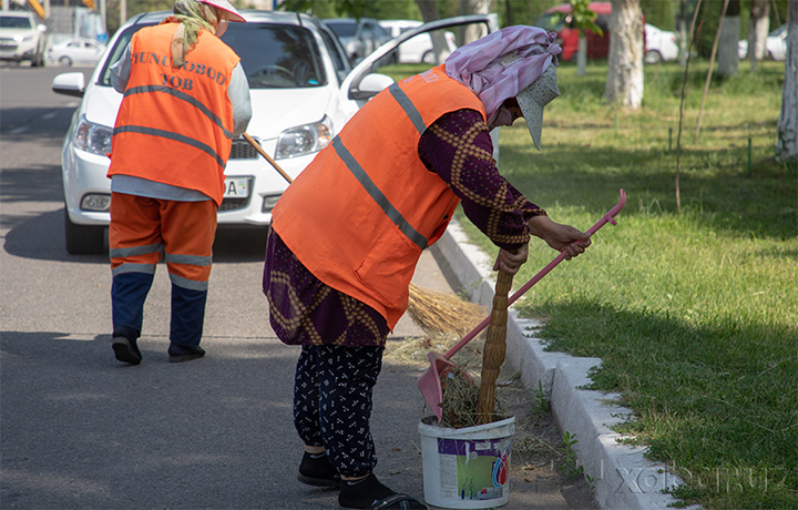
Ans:
[[[453,294],[441,293],[410,284],[408,312],[430,335],[466,335],[484,317],[480,305]]]

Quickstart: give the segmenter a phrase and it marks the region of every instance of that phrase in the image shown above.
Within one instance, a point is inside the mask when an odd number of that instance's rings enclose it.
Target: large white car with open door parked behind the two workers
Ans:
[[[109,68],[136,30],[167,14],[145,13],[129,20],[108,44],[88,83],[80,72],[53,80],[54,92],[83,98],[64,139],[61,162],[65,244],[71,254],[106,249],[111,202],[106,154],[112,152],[113,125],[122,102],[111,85]],[[338,39],[314,17],[274,11],[242,14],[247,22],[231,23],[222,40],[242,58],[249,81],[253,119],[247,134],[295,178],[366,101],[393,83],[372,68],[400,40],[383,44],[352,69]],[[491,31],[497,28],[491,16],[454,20],[481,22]],[[242,137],[233,141],[225,175],[219,228],[269,225],[272,208],[288,185],[280,173]]]

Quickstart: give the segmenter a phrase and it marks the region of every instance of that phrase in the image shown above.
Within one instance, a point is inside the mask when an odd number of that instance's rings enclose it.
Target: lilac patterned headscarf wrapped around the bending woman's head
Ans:
[[[538,27],[505,27],[458,48],[446,60],[446,72],[477,94],[490,125],[505,99],[518,95],[549,65],[557,64],[562,48],[555,39],[555,33]],[[520,58],[502,64],[502,57],[510,53]]]

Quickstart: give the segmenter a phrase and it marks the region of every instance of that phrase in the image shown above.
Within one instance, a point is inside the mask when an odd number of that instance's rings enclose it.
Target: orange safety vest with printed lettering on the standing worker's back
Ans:
[[[196,190],[219,205],[233,145],[227,88],[241,59],[203,30],[183,67],[173,68],[177,27],[144,28],[131,40],[130,81],[116,115],[108,175]]]

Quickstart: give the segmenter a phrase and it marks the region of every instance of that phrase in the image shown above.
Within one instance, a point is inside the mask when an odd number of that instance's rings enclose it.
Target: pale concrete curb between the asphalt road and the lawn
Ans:
[[[468,242],[458,222],[452,222],[430,249],[453,287],[466,289],[472,302],[491,307],[493,261]],[[590,369],[601,359],[543,350],[536,336],[541,326],[510,310],[505,363],[520,371],[528,388],[542,389],[549,396],[560,430],[576,439],[572,449],[593,484],[597,503],[603,509],[669,508],[677,500],[662,491],[683,480],[666,465],[647,460],[644,448],[620,443],[623,436],[610,428],[623,422],[632,410],[616,404],[618,395],[582,389],[591,382]]]

